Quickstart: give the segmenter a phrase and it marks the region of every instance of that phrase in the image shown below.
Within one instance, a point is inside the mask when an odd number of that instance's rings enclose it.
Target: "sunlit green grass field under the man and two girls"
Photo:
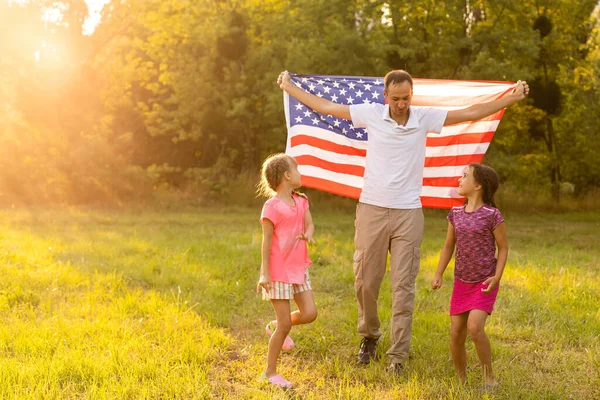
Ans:
[[[500,389],[482,391],[468,343],[459,387],[448,349],[451,270],[429,289],[446,231],[427,211],[406,371],[355,363],[353,215],[313,207],[319,318],[296,327],[284,393],[257,382],[269,303],[254,292],[260,209],[0,211],[0,398],[600,398],[600,214],[505,215],[511,246],[487,332]]]

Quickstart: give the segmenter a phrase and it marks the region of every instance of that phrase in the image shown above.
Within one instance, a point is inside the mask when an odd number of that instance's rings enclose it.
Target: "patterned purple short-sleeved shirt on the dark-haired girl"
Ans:
[[[473,212],[466,212],[465,207],[453,207],[448,214],[456,234],[454,276],[463,282],[481,282],[496,273],[494,229],[504,218],[488,205]]]

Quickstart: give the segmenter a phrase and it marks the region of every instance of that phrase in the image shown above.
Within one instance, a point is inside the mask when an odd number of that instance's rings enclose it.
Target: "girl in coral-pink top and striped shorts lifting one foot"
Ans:
[[[260,380],[292,388],[292,383],[277,373],[277,358],[281,349],[291,350],[294,342],[288,336],[293,325],[307,324],[317,318],[308,267],[307,243],[313,242],[315,227],[308,200],[295,191],[302,185],[298,163],[285,154],[275,154],[265,160],[258,185],[260,195],[270,197],[260,217],[263,231],[262,263],[256,287],[263,299],[270,300],[276,320],[265,331],[271,338],[267,367]],[[298,310],[290,313],[290,300]]]

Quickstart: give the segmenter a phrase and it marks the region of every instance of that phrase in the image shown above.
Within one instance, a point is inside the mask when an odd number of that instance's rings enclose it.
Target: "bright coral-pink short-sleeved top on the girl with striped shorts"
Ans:
[[[290,206],[275,196],[265,202],[260,221],[273,223],[273,241],[269,260],[269,273],[274,282],[304,283],[305,271],[312,262],[305,240],[298,239],[304,232],[304,214],[308,200],[293,194],[295,205]]]

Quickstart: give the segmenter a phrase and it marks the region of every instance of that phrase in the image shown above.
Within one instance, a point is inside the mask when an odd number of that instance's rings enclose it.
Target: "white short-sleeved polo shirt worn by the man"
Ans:
[[[440,133],[446,114],[411,106],[403,126],[392,119],[387,104],[350,106],[352,124],[367,128],[369,134],[360,202],[386,208],[421,207],[427,133]]]

